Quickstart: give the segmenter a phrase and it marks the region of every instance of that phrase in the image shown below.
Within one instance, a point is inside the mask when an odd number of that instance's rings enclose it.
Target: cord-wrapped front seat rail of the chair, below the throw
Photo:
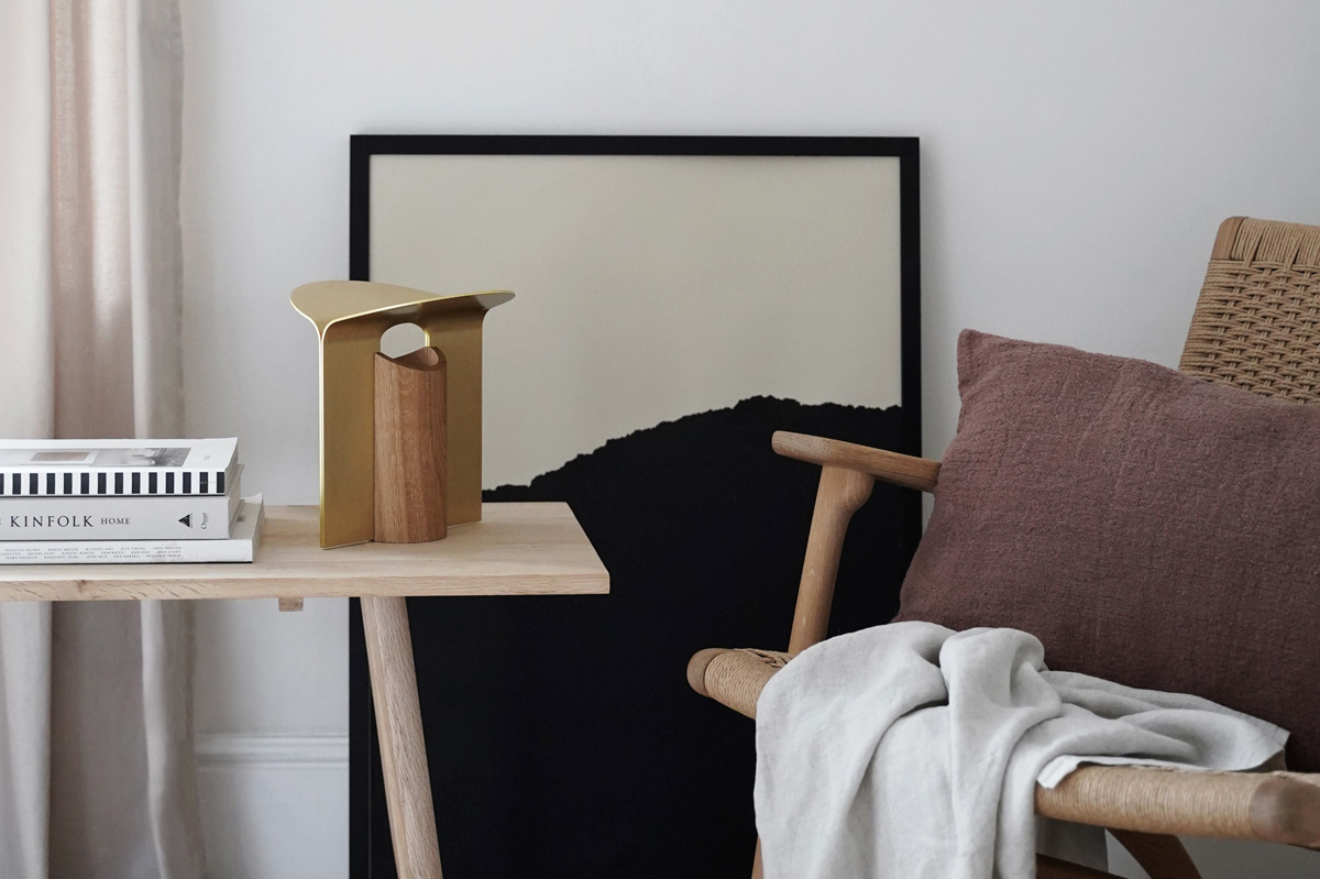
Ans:
[[[1320,847],[1320,776],[1084,765],[1036,812],[1118,830]]]

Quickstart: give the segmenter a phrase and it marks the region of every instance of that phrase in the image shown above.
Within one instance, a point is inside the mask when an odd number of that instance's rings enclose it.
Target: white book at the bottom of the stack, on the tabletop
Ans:
[[[261,495],[244,498],[226,540],[20,540],[0,542],[0,565],[249,562],[265,524]]]

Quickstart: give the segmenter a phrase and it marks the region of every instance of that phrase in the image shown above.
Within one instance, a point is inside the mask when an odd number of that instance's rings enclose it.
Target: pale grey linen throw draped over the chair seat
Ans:
[[[1016,630],[841,635],[756,703],[766,879],[1031,878],[1038,781],[1082,763],[1253,769],[1286,738],[1193,696],[1051,672]]]

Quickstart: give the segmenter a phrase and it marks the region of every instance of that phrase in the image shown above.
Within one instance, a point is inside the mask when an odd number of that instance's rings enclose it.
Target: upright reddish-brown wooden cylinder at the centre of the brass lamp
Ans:
[[[376,354],[376,540],[421,544],[445,536],[445,355]]]

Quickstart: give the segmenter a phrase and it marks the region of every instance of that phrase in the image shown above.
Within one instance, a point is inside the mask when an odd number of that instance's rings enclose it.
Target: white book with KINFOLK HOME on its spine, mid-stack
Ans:
[[[0,498],[0,541],[224,540],[242,478],[239,466],[224,495]]]

